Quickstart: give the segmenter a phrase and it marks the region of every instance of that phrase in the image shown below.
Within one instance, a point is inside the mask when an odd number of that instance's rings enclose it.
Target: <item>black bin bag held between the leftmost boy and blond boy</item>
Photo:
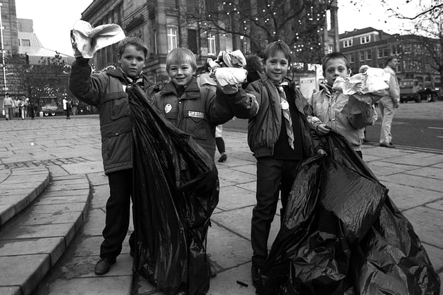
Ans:
[[[206,235],[219,198],[214,160],[138,86],[126,92],[134,117],[134,268],[165,294],[206,294]]]

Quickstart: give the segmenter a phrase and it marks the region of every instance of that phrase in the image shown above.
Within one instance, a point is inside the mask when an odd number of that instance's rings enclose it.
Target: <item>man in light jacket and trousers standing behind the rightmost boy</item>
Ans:
[[[395,75],[395,69],[399,63],[397,57],[388,57],[386,59],[386,67],[384,70],[390,75],[389,78],[389,91],[379,101],[379,108],[381,112],[381,130],[380,130],[380,146],[387,148],[395,148],[392,144],[392,135],[390,133],[390,127],[392,119],[394,118],[394,110],[399,107],[400,102],[400,88],[397,81],[397,75]]]

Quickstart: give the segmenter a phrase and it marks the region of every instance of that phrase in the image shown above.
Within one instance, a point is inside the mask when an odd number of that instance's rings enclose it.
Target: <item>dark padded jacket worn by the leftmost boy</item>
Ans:
[[[78,58],[71,67],[69,90],[82,102],[96,106],[100,115],[105,174],[132,169],[132,115],[120,69],[91,75],[89,59]],[[153,84],[143,75],[145,92]]]

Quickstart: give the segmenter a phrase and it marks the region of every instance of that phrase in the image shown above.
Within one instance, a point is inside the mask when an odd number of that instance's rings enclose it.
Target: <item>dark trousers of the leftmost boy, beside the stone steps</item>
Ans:
[[[110,196],[106,203],[105,239],[100,246],[100,257],[115,261],[122,251],[122,243],[129,228],[132,196],[132,169],[108,174]]]

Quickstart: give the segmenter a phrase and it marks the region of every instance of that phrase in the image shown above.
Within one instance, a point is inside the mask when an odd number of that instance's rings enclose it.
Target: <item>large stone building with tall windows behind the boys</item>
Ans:
[[[326,1],[311,2],[323,3]],[[104,23],[117,23],[127,36],[143,39],[149,49],[144,72],[152,81],[162,83],[168,80],[166,55],[174,48],[189,48],[195,53],[199,65],[203,64],[208,56],[218,55],[223,50],[239,49],[247,55],[260,49],[256,48],[257,46],[251,46],[251,38],[245,37],[246,31],[254,36],[255,41],[264,37],[266,32],[255,28],[255,35],[253,35],[251,26],[241,26],[246,23],[246,19],[242,18],[241,14],[226,13],[228,10],[235,12],[230,4],[233,3],[213,0],[94,0],[82,13],[82,20],[91,23],[93,27]],[[262,4],[261,1],[248,0],[242,1],[242,6],[237,7],[242,8],[244,12],[262,11],[266,8],[262,8],[260,6]],[[325,18],[323,21],[323,15],[310,20],[318,21],[320,26],[324,26],[321,31],[320,28],[314,31],[314,35],[317,35],[321,42],[321,44],[315,44],[321,48],[318,51],[321,55],[323,55],[323,51],[327,53],[332,48],[334,50],[338,48],[336,0],[332,1],[332,6],[335,7],[335,10],[331,12],[329,19]],[[314,7],[306,9],[309,11],[302,13],[312,12]],[[219,14],[217,23],[210,23],[211,19],[215,19],[215,13],[211,14],[211,11]],[[237,12],[239,11],[237,10]],[[331,23],[330,25],[328,25],[328,21]],[[227,26],[230,28],[226,28]],[[327,27],[330,27],[329,31]],[[221,28],[226,30],[221,30]],[[267,44],[267,42],[255,43]],[[301,56],[301,53],[296,53],[295,49],[296,46],[294,46],[295,55]],[[301,51],[301,48],[297,49]],[[93,57],[93,66],[96,70],[103,70],[109,65],[115,65],[117,59],[116,44],[114,44],[114,46],[103,48],[96,53]]]

